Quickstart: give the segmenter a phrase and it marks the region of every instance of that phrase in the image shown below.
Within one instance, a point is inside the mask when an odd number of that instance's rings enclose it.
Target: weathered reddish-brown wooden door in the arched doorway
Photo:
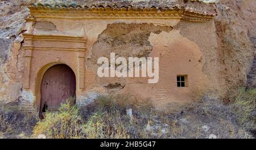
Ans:
[[[57,110],[68,98],[76,96],[76,76],[67,65],[49,68],[41,84],[40,114]]]

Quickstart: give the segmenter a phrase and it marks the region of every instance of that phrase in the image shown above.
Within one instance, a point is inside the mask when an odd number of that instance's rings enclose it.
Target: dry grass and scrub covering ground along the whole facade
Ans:
[[[10,138],[34,127],[34,138],[39,134],[61,139],[208,138],[210,134],[217,138],[253,138],[255,97],[255,89],[241,88],[229,105],[204,96],[180,112],[155,110],[149,101],[138,105],[122,95],[100,96],[93,104],[80,108],[68,100],[59,111],[47,112],[35,127],[37,120],[31,115],[1,110],[0,136]],[[133,109],[132,118],[126,115],[129,108]],[[206,125],[208,131],[202,129]]]

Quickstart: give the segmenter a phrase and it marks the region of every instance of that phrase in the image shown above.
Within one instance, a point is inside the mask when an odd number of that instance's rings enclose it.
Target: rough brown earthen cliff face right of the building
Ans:
[[[220,1],[216,8],[214,22],[225,91],[232,93],[246,83],[255,87],[256,2]]]

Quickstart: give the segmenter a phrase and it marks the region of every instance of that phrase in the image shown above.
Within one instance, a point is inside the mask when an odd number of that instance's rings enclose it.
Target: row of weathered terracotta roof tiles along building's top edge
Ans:
[[[32,8],[34,7],[34,8]],[[203,3],[201,1],[188,1],[181,0],[171,1],[124,1],[124,0],[112,0],[112,1],[85,1],[71,2],[71,3],[33,3],[30,9],[89,9],[89,10],[136,10],[136,11],[166,11],[166,10],[183,10],[184,12],[196,15],[215,16],[216,12],[211,3]]]

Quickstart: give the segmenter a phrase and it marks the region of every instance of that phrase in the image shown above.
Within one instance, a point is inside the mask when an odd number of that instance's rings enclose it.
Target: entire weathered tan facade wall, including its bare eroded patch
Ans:
[[[155,106],[175,108],[218,87],[213,22],[194,23],[180,19],[38,19],[33,27],[33,33],[37,35],[47,32],[86,37],[84,80],[78,82],[83,83],[84,88],[77,88],[79,105],[88,104],[100,93],[120,93],[138,101],[152,101]],[[47,44],[34,42],[38,46]],[[56,42],[56,45],[65,47],[71,43]],[[148,84],[147,78],[98,78],[97,59],[102,56],[109,58],[111,52],[126,58],[159,57],[159,82]],[[14,91],[19,91],[19,95],[27,99],[25,108],[33,105],[38,107],[40,104],[40,78],[49,67],[47,65],[65,63],[75,72],[77,80],[81,78],[77,69],[81,67],[77,66],[80,61],[77,53],[33,50],[28,78],[30,88],[20,89],[27,82],[22,79],[27,78],[23,74],[27,69],[24,67],[24,49],[21,48],[17,55],[16,80],[20,85]],[[188,75],[188,87],[177,87],[177,75]]]

